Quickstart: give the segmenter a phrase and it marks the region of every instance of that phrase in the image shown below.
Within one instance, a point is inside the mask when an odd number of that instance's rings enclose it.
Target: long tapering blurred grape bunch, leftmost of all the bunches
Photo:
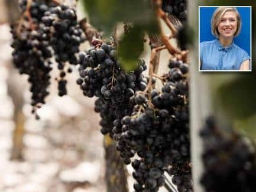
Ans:
[[[21,14],[24,15],[17,25],[12,25],[12,35],[14,38],[11,46],[14,48],[12,56],[15,67],[21,74],[28,74],[28,82],[31,83],[32,92],[31,105],[35,109],[40,108],[44,103],[45,97],[49,94],[47,87],[50,84],[51,61],[53,56],[52,49],[48,42],[47,35],[38,27],[41,22],[40,16],[54,4],[46,4],[44,1],[32,2],[27,10],[27,1],[21,1]],[[27,12],[30,12],[28,17]],[[38,13],[38,14],[35,14]],[[38,116],[36,115],[36,118]]]

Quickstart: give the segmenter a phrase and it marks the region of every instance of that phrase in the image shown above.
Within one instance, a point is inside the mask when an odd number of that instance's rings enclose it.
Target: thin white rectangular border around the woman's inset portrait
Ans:
[[[249,70],[200,70],[200,8],[203,8],[203,7],[244,7],[244,8],[249,8],[249,12],[250,12],[250,64],[249,64]],[[231,6],[201,6],[199,5],[198,6],[198,71],[200,72],[250,72],[252,71],[252,50],[251,50],[251,47],[252,47],[252,6],[234,6],[234,5],[231,5]]]

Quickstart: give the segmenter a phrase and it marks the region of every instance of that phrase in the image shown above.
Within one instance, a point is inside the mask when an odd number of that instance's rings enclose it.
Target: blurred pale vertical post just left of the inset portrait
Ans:
[[[212,112],[211,90],[208,86],[208,74],[199,71],[199,1],[188,1],[189,5],[189,25],[193,28],[193,45],[189,50],[190,63],[190,136],[191,136],[191,154],[192,154],[192,174],[194,191],[203,192],[200,184],[202,176],[202,139],[199,136],[205,118]]]

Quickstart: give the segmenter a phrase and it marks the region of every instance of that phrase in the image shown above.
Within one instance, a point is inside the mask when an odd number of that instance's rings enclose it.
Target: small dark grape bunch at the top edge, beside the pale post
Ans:
[[[174,15],[180,21],[187,21],[187,1],[186,0],[163,0],[162,9],[169,15]]]

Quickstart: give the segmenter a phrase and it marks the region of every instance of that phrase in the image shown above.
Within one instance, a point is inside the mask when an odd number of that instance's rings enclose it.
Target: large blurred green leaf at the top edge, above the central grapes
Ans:
[[[108,36],[117,22],[129,21],[144,30],[158,32],[155,12],[150,1],[138,0],[81,0],[92,25]]]

